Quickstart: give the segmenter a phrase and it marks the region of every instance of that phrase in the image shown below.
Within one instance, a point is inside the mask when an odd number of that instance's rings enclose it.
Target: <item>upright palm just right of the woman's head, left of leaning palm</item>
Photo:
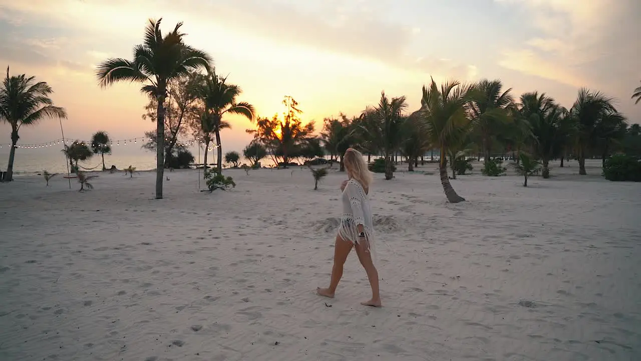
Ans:
[[[403,141],[403,112],[407,109],[404,96],[388,98],[381,92],[381,100],[376,107],[367,107],[362,113],[362,127],[371,143],[383,148],[385,157],[385,179],[394,177],[392,155]]]

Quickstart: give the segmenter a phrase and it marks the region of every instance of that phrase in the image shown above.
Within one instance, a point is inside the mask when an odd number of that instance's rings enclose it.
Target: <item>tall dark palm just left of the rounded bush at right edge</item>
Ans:
[[[599,134],[599,123],[608,114],[617,112],[614,105],[614,98],[606,96],[601,92],[590,92],[581,88],[577,100],[570,109],[570,116],[574,118],[578,127],[576,138],[577,158],[579,160],[579,174],[586,175],[585,157],[587,152],[594,149]]]

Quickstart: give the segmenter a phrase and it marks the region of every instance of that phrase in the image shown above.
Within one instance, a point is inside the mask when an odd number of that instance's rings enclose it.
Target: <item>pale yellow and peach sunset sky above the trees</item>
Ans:
[[[67,109],[65,136],[88,140],[144,136],[140,85],[101,89],[96,64],[131,58],[147,19],[212,55],[260,116],[283,112],[293,96],[303,121],[358,115],[385,91],[418,109],[430,76],[437,82],[500,79],[512,94],[545,92],[571,107],[580,87],[617,98],[629,123],[641,122],[641,1],[638,0],[0,0],[0,65],[54,89]],[[4,71],[4,68],[3,68]],[[3,76],[4,77],[4,76]],[[241,150],[251,123],[228,119],[224,151]],[[60,137],[44,120],[21,129],[21,143]],[[0,143],[10,128],[0,125]]]

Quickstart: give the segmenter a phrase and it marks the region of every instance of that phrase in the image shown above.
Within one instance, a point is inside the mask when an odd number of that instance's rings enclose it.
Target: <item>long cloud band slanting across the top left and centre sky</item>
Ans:
[[[109,33],[112,39],[119,41],[124,42],[124,37],[131,37],[133,42],[140,41],[147,18],[165,13],[167,19],[163,28],[173,24],[174,20],[182,20],[185,28],[188,27],[187,33],[197,31],[200,35],[217,26],[281,44],[366,58],[392,67],[438,75],[449,75],[447,71],[460,66],[438,58],[416,62],[417,56],[408,54],[408,48],[419,35],[420,28],[383,21],[377,14],[379,11],[372,9],[376,4],[363,0],[317,3],[292,0],[185,0],[180,3],[167,0],[140,0],[135,3],[125,0],[58,0],[54,5],[46,0],[0,0],[0,3],[6,3],[3,4],[4,12],[12,13],[12,19],[22,19],[21,23],[28,21],[66,27],[74,29],[78,37]],[[123,13],[121,8],[125,5],[128,11]],[[462,65],[463,68],[468,66]]]

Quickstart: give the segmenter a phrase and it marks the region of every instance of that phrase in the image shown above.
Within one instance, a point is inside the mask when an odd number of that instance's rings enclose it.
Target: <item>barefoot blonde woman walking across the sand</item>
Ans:
[[[378,290],[378,271],[374,267],[374,229],[372,227],[372,209],[369,205],[369,186],[372,175],[367,163],[358,150],[349,148],[343,157],[348,180],[340,186],[343,192],[343,215],[338,227],[334,247],[334,267],[328,288],[317,288],[319,295],[334,297],[340,278],[343,276],[343,265],[352,248],[356,249],[358,260],[367,272],[369,285],[372,287],[372,298],[362,302],[365,306],[381,306]]]

